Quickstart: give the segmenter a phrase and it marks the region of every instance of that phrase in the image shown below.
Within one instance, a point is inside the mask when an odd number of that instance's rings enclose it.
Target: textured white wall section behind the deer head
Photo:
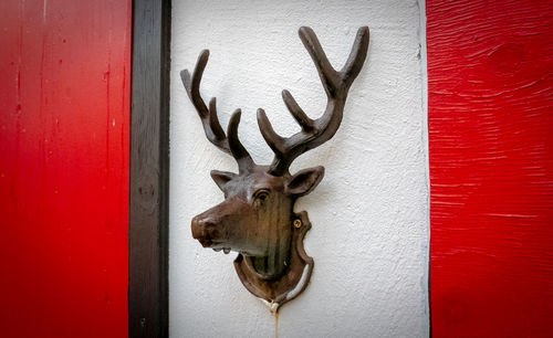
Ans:
[[[240,283],[232,261],[192,240],[194,215],[222,201],[209,170],[236,170],[204,136],[179,71],[202,49],[206,102],[217,96],[223,128],[242,108],[240,137],[258,163],[272,152],[255,122],[267,110],[276,131],[299,130],[281,99],[292,92],[311,117],[326,104],[298,38],[314,29],[336,68],[355,32],[371,28],[365,66],[349,91],[336,136],[300,157],[292,172],[326,175],[296,211],[313,229],[311,284],[280,314],[280,337],[428,336],[428,187],[416,0],[174,1],[171,64],[170,336],[272,337],[274,318]]]

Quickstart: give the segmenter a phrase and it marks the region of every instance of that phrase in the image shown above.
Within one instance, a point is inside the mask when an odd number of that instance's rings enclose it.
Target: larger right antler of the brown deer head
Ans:
[[[267,118],[265,112],[258,109],[259,128],[274,152],[269,172],[275,176],[288,172],[290,165],[298,156],[319,147],[334,136],[342,122],[347,91],[359,74],[368,50],[368,27],[362,27],[357,31],[344,67],[336,72],[328,62],[315,32],[309,27],[302,27],[299,34],[319,71],[328,101],[323,116],[313,120],[302,110],[289,91],[282,91],[286,108],[302,127],[300,133],[288,138],[279,136]]]

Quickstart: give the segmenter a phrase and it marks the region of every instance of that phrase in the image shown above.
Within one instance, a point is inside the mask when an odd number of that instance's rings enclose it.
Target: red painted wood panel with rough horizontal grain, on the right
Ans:
[[[553,6],[427,1],[435,337],[553,336]]]

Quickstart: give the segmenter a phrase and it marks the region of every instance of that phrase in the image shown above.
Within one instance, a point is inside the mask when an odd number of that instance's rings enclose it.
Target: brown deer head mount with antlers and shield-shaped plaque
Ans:
[[[311,223],[305,211],[293,210],[296,199],[313,191],[324,176],[323,167],[291,175],[290,165],[303,152],[331,139],[338,129],[347,92],[365,62],[369,36],[367,27],[358,29],[349,57],[338,72],[311,28],[302,27],[299,34],[326,92],[326,109],[320,118],[311,119],[292,94],[283,91],[282,98],[302,128],[291,137],[278,135],[265,112],[258,109],[259,128],[274,152],[270,166],[255,165],[240,142],[240,109],[232,114],[226,134],[217,117],[216,98],[211,98],[209,107],[201,98],[200,82],[209,51],[200,53],[191,75],[187,70],[180,72],[207,138],[238,162],[238,173],[211,171],[225,201],[192,219],[192,236],[204,247],[238,252],[234,267],[242,284],[273,311],[303,292],[310,281],[313,258],[303,249],[303,237]]]

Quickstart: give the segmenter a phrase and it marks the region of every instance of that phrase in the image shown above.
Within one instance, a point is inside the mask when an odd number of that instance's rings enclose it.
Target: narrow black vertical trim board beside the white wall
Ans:
[[[134,0],[129,337],[168,337],[169,53],[170,0]]]

